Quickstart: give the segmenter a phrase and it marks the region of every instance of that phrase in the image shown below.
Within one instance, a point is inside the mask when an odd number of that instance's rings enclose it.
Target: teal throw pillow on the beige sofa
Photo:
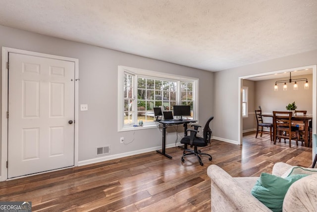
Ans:
[[[262,173],[256,185],[251,190],[251,194],[273,212],[281,212],[288,188],[292,183],[305,176],[307,174],[295,174],[282,178]]]

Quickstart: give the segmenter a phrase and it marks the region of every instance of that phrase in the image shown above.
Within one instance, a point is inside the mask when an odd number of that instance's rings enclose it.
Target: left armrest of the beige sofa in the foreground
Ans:
[[[210,165],[207,174],[211,178],[211,209],[221,211],[226,208],[227,211],[241,212],[271,212],[263,203],[255,198],[250,192],[243,189],[240,184],[227,172],[217,165]],[[213,186],[216,186],[213,191]],[[217,191],[219,190],[219,192]],[[217,192],[217,193],[215,193]],[[217,204],[213,198],[226,199],[228,206],[221,206],[222,209],[215,208],[212,204]],[[230,209],[229,209],[230,208]]]

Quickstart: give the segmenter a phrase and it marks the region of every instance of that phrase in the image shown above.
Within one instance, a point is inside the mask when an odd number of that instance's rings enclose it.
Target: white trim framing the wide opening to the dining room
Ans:
[[[297,67],[297,68],[290,68],[285,70],[279,70],[279,71],[271,71],[271,72],[265,72],[260,74],[253,74],[253,75],[247,75],[242,76],[238,78],[238,89],[239,89],[239,95],[238,95],[238,144],[242,145],[242,80],[248,79],[250,77],[258,77],[258,76],[265,76],[265,75],[271,75],[271,74],[278,74],[278,73],[284,73],[284,72],[291,72],[296,70],[303,70],[306,68],[312,68],[313,69],[313,134],[317,133],[316,126],[317,126],[317,65],[308,65],[304,67]]]

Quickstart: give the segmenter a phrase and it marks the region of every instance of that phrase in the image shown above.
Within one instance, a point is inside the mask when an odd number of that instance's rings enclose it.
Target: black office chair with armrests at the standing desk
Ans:
[[[185,146],[187,145],[190,145],[190,147],[194,146],[194,150],[189,150],[189,149],[184,150],[183,156],[182,156],[182,162],[185,161],[184,157],[188,155],[195,155],[198,158],[199,163],[201,165],[204,165],[204,163],[202,162],[202,159],[200,158],[199,155],[209,156],[210,157],[209,160],[212,160],[211,155],[207,153],[202,153],[200,150],[197,150],[197,147],[206,147],[210,143],[212,131],[209,127],[209,123],[211,122],[212,119],[213,119],[213,116],[211,116],[205,124],[204,131],[203,131],[203,138],[196,137],[197,133],[199,132],[198,128],[202,126],[193,124],[192,126],[194,126],[194,129],[187,129],[187,131],[190,131],[190,135],[182,138],[182,140],[180,140],[180,143],[185,144]]]

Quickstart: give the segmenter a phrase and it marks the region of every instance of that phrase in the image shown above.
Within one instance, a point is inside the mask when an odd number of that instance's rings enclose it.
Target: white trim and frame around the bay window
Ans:
[[[165,78],[167,80],[176,80],[176,81],[191,81],[193,82],[193,97],[194,97],[194,111],[193,115],[196,120],[198,120],[198,84],[199,84],[199,79],[198,78],[193,78],[193,77],[186,77],[186,76],[180,76],[180,75],[174,75],[174,74],[168,74],[168,73],[162,73],[162,72],[157,72],[157,71],[150,71],[150,70],[145,70],[145,69],[139,69],[139,68],[133,68],[133,67],[127,67],[127,66],[118,66],[118,102],[117,102],[117,117],[118,117],[118,132],[122,131],[131,131],[131,130],[142,130],[142,129],[150,129],[150,128],[157,128],[158,125],[156,122],[152,123],[146,123],[143,127],[134,127],[133,125],[124,125],[123,119],[123,105],[124,105],[124,99],[123,99],[123,76],[124,72],[128,72],[131,74],[135,74],[137,76],[146,76],[146,77],[158,77],[158,78]],[[135,86],[136,86],[136,81],[135,80]],[[179,84],[179,83],[178,83]],[[179,85],[178,85],[179,86]],[[136,87],[135,87],[136,88]],[[179,89],[179,88],[178,88]],[[180,102],[180,92],[178,90],[178,97],[177,100]],[[136,95],[136,94],[135,94]]]

